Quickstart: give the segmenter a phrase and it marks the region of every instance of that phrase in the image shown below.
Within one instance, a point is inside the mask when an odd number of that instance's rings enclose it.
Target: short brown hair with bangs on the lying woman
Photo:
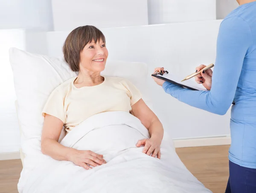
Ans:
[[[100,39],[106,42],[103,33],[94,26],[81,26],[70,32],[63,46],[63,54],[72,71],[79,71],[80,52],[84,46],[93,40],[97,42]]]

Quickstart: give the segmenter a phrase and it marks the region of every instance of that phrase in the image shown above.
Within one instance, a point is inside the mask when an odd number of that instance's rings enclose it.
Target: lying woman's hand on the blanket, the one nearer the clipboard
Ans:
[[[152,153],[152,157],[156,157],[158,159],[161,158],[161,152],[160,152],[160,145],[162,140],[157,138],[149,138],[149,139],[142,139],[137,142],[136,146],[140,147],[144,145],[143,153],[146,153],[148,156]]]

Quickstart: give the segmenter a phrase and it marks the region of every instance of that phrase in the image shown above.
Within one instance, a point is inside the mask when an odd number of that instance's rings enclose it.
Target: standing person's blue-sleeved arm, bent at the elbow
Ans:
[[[232,104],[244,57],[252,43],[250,26],[241,17],[230,17],[221,23],[215,69],[210,91],[193,91],[169,82],[166,93],[190,106],[224,115]]]

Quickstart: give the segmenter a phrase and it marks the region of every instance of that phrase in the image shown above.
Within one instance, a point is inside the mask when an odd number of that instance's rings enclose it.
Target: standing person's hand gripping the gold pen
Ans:
[[[200,71],[206,67],[205,65],[200,65],[196,67],[196,72]],[[201,72],[201,74],[195,76],[195,81],[198,84],[203,84],[203,86],[207,89],[210,90],[212,87],[212,69],[208,69],[206,71]]]

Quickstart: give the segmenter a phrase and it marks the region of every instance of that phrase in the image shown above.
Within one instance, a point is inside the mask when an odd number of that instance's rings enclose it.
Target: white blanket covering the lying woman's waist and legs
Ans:
[[[107,164],[85,170],[46,156],[19,182],[20,193],[211,193],[182,164],[164,138],[161,159],[142,153],[148,138],[140,120],[127,112],[103,112],[75,127],[61,144],[102,154]],[[22,179],[23,178],[23,179]]]

